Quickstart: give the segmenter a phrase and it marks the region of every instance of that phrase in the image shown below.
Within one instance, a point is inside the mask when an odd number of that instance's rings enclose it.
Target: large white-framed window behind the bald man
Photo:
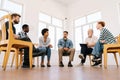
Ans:
[[[80,43],[85,43],[85,39],[88,37],[87,31],[89,28],[93,29],[94,35],[99,37],[99,31],[96,29],[96,23],[101,19],[101,12],[95,12],[75,20],[76,50],[80,49]]]

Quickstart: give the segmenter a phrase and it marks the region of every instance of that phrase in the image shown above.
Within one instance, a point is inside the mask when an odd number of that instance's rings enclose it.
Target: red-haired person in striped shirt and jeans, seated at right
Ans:
[[[92,51],[92,55],[94,56],[92,61],[95,62],[92,66],[97,66],[97,65],[101,64],[103,45],[104,44],[113,44],[116,42],[113,34],[104,27],[105,27],[105,22],[100,21],[97,23],[96,28],[100,30],[100,37]]]

